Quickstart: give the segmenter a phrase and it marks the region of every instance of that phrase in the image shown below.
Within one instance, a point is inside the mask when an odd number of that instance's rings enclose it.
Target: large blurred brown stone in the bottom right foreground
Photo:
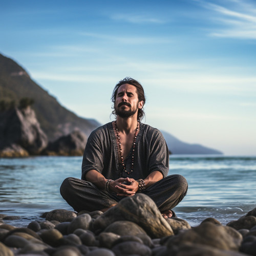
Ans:
[[[167,247],[172,248],[182,244],[206,245],[221,250],[238,250],[243,240],[242,235],[229,227],[205,222],[193,229],[180,232],[167,241]]]

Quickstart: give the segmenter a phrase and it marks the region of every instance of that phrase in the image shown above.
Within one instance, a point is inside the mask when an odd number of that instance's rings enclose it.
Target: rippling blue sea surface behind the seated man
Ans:
[[[73,210],[60,196],[66,177],[81,176],[82,157],[0,159],[0,214],[25,227],[53,209]],[[256,207],[256,156],[172,155],[169,174],[181,174],[188,192],[174,208],[196,226],[208,217],[227,224]]]

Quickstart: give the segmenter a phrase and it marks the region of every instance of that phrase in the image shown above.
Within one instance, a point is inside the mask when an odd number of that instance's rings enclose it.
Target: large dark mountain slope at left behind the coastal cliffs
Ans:
[[[53,96],[36,84],[25,69],[15,61],[0,54],[0,102],[17,105],[22,98],[34,101],[32,108],[41,129],[53,141],[67,135],[77,127],[89,135],[100,125],[94,119],[81,118],[59,104]],[[5,104],[5,103],[4,103]]]

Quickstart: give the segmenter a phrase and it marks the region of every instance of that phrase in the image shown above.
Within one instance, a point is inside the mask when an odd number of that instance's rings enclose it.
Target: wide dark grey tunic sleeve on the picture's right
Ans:
[[[158,170],[166,177],[169,172],[169,151],[162,133],[154,129],[147,134],[148,138],[148,173]]]

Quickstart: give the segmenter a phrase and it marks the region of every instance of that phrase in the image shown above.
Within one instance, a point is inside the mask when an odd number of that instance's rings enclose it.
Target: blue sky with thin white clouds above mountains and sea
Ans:
[[[256,2],[4,1],[0,53],[67,109],[104,124],[126,76],[143,122],[225,155],[256,155]]]

